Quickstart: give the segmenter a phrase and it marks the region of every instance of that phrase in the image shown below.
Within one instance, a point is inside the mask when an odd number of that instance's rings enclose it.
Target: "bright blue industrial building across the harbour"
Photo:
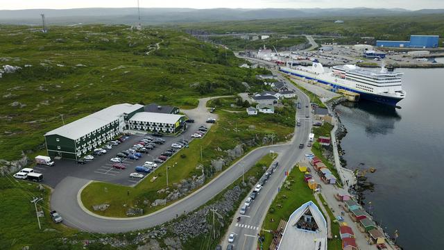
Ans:
[[[438,35],[411,35],[409,41],[377,40],[377,47],[433,49],[439,44]]]

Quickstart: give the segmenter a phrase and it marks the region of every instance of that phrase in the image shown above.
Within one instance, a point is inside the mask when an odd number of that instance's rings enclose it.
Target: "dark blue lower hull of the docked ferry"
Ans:
[[[352,88],[347,88],[343,85],[338,85],[336,83],[331,83],[330,81],[324,81],[322,79],[319,78],[314,78],[311,76],[307,76],[304,74],[298,74],[296,72],[289,72],[285,69],[280,69],[281,72],[287,73],[287,74],[291,74],[293,76],[298,76],[298,77],[302,77],[302,78],[306,78],[309,80],[314,80],[314,81],[318,81],[318,83],[323,83],[325,85],[329,85],[332,88],[336,89],[336,90],[348,90],[350,92],[355,92],[359,94],[359,99],[366,99],[368,101],[375,101],[377,103],[382,103],[382,104],[386,104],[386,105],[390,105],[390,106],[396,106],[396,104],[402,100],[402,98],[395,98],[395,97],[384,97],[382,95],[379,94],[370,94],[367,92],[361,92],[359,90],[354,90]]]

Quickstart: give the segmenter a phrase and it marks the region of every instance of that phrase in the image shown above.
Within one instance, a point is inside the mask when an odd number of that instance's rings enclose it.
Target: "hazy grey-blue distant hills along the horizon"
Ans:
[[[135,24],[137,8],[77,8],[66,10],[0,10],[0,24],[40,24],[44,13],[49,25],[64,24]],[[436,10],[405,10],[402,8],[264,8],[264,9],[192,9],[192,8],[141,8],[142,24],[171,24],[189,22],[219,22],[253,19],[300,17],[366,17],[386,15],[414,15],[444,13]]]

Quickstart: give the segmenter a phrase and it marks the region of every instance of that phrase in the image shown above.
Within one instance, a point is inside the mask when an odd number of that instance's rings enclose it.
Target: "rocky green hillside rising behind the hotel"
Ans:
[[[156,44],[160,49],[156,50]],[[226,52],[226,53],[225,53]],[[148,54],[147,54],[148,53]],[[0,159],[42,149],[46,131],[115,103],[196,106],[244,90],[261,69],[177,31],[130,26],[0,26]]]

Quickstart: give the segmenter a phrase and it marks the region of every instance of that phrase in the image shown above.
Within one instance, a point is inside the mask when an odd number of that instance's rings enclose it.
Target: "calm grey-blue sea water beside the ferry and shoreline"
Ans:
[[[336,107],[348,130],[341,147],[350,169],[377,169],[366,174],[375,183],[366,201],[404,249],[444,249],[444,69],[397,71],[407,91],[401,109]]]

